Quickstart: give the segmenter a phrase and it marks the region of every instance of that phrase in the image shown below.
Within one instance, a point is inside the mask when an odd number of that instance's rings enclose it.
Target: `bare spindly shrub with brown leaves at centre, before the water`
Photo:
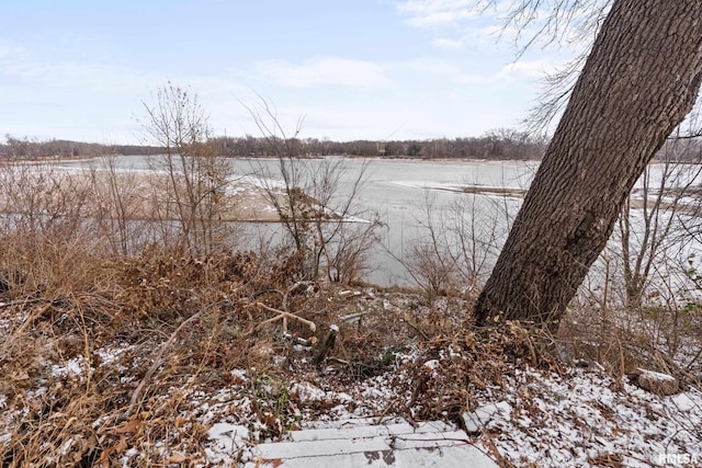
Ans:
[[[298,255],[301,279],[361,279],[381,227],[377,214],[358,206],[367,162],[351,173],[344,159],[309,159],[298,138],[303,118],[291,135],[275,106],[263,98],[247,110],[268,142],[269,155],[276,160],[278,173],[259,164],[260,180]],[[278,176],[282,186],[275,183]]]

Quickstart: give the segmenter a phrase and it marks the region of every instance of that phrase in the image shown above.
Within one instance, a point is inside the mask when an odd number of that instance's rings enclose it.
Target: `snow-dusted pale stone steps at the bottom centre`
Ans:
[[[293,431],[290,441],[260,444],[247,467],[498,467],[484,452],[464,431],[441,421],[347,420]]]

